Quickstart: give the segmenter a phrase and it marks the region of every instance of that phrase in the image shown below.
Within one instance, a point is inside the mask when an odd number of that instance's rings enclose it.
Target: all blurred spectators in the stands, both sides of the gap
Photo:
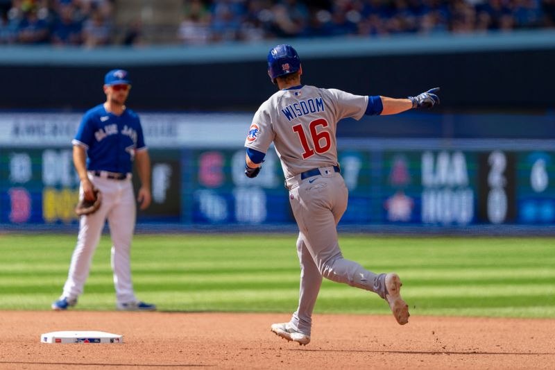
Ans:
[[[114,27],[115,6],[0,0],[0,44],[137,43],[149,30],[139,22]],[[555,0],[184,0],[183,14],[176,41],[184,44],[555,28]]]

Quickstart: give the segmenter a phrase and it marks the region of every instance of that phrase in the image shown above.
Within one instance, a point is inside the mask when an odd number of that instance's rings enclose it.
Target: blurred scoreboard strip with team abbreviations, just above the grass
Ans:
[[[555,224],[551,142],[470,144],[373,140],[350,145],[339,140],[341,174],[349,189],[341,223]],[[255,179],[244,176],[242,147],[156,147],[149,152],[153,203],[139,212],[139,222],[294,223],[273,149]],[[1,147],[0,224],[76,224],[78,185],[71,147]]]

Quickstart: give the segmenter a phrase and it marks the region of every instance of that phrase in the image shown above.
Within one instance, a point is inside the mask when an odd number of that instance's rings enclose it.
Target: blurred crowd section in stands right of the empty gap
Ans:
[[[555,0],[190,0],[187,44],[555,27]]]

